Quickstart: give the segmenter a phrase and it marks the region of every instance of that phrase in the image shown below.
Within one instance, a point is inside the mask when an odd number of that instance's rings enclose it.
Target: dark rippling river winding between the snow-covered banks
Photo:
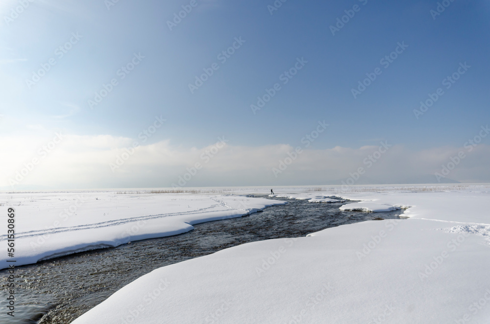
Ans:
[[[0,323],[67,324],[156,268],[248,242],[300,237],[377,217],[398,218],[403,212],[341,211],[342,205],[288,200],[286,205],[268,207],[249,216],[197,224],[193,231],[180,235],[18,267],[15,317],[6,315],[7,271],[1,270]]]

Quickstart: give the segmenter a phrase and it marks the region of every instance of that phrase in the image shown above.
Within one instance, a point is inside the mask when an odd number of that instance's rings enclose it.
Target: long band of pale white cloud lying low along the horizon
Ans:
[[[490,146],[485,144],[478,145],[471,152],[456,147],[412,152],[401,145],[393,145],[386,153],[378,153],[374,157],[378,146],[305,149],[275,177],[272,168],[279,168],[279,161],[285,161],[293,147],[285,144],[234,146],[230,141],[221,149],[214,147],[214,143],[203,148],[184,148],[172,146],[170,141],[164,140],[142,144],[131,155],[124,148],[130,147],[134,139],[109,135],[62,136],[63,140],[51,150],[51,137],[1,137],[0,150],[9,159],[0,161],[0,169],[3,170],[0,186],[8,186],[9,179],[25,168],[25,163],[29,165],[33,158],[37,158],[39,163],[23,177],[20,185],[53,188],[165,187],[177,183],[179,176],[188,172],[187,168],[192,168],[196,162],[202,168],[186,183],[187,186],[339,184],[360,167],[365,173],[356,180],[356,184],[420,182],[420,179],[423,182],[435,172],[441,172],[441,165],[447,165],[450,158],[460,151],[464,151],[466,157],[447,178],[463,182],[490,181],[487,167]],[[126,158],[126,161],[112,172],[110,163],[116,165],[118,157]],[[435,180],[435,177],[430,179]]]

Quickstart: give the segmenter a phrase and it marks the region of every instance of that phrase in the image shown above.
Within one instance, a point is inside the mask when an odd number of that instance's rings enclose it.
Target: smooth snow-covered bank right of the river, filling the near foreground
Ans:
[[[490,323],[489,192],[321,194],[411,218],[166,266],[73,323]]]

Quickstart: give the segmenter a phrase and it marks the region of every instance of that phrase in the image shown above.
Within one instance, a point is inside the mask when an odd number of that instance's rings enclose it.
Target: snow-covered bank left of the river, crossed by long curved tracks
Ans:
[[[129,241],[175,235],[192,225],[240,217],[271,205],[264,198],[209,194],[2,193],[0,212],[15,209],[16,265]],[[7,246],[1,231],[0,245]],[[0,269],[8,267],[6,255]]]

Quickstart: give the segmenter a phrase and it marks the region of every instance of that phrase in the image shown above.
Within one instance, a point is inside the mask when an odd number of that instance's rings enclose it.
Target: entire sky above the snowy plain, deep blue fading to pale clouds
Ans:
[[[202,162],[192,154],[219,136],[228,139],[225,151],[186,185],[338,183],[382,140],[400,151],[380,159],[379,174],[366,174],[365,181],[410,182],[438,172],[490,119],[489,1],[448,0],[433,16],[438,1],[288,0],[271,14],[272,0],[196,0],[172,30],[168,22],[192,1],[109,1],[0,2],[0,136],[2,160],[10,160],[2,164],[0,186],[59,131],[73,140],[63,141],[19,185],[170,186],[186,167]],[[21,2],[26,8],[16,9]],[[354,16],[347,21],[348,13]],[[346,23],[332,35],[338,18]],[[235,38],[245,42],[223,62],[218,55]],[[71,39],[61,57],[57,48]],[[389,66],[382,64],[398,43],[408,47]],[[121,79],[118,71],[134,53],[144,58]],[[26,80],[49,59],[56,64],[29,87]],[[283,84],[281,74],[297,59],[307,63]],[[189,84],[213,63],[219,69],[191,93]],[[446,89],[443,80],[460,63],[470,68]],[[351,90],[377,68],[381,74],[354,98]],[[113,78],[117,86],[91,109],[89,100]],[[275,83],[281,90],[253,114],[250,105]],[[443,95],[417,119],[414,109],[438,88]],[[146,155],[131,156],[112,172],[110,157],[121,155],[155,116],[166,122],[140,143]],[[274,165],[323,120],[328,130],[276,177]],[[486,141],[448,178],[490,182]],[[339,150],[339,160],[327,158]],[[76,154],[92,159],[83,162]],[[249,174],[237,166],[245,154]],[[406,162],[402,169],[397,158]]]

